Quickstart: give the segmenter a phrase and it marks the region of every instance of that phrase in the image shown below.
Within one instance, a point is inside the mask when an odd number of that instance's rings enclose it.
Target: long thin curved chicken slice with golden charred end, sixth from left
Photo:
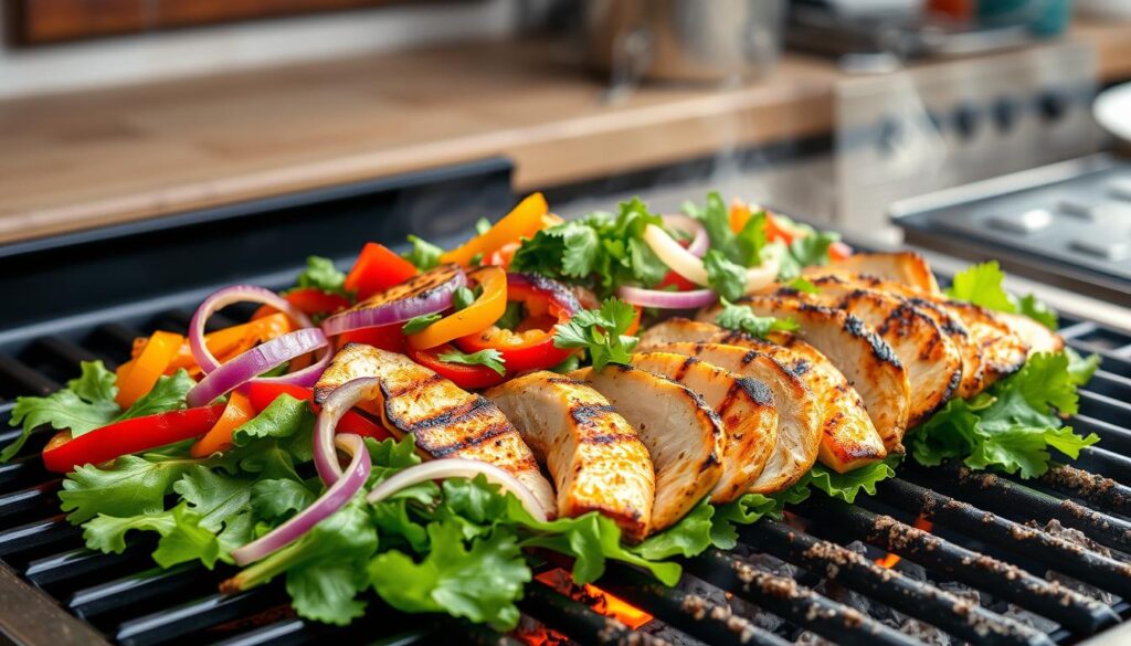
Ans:
[[[640,350],[665,343],[723,343],[756,350],[774,359],[801,379],[821,411],[821,441],[817,459],[838,473],[883,459],[888,451],[872,424],[860,394],[845,376],[821,354],[792,334],[775,334],[776,343],[723,329],[716,325],[674,318],[653,326],[640,338]]]

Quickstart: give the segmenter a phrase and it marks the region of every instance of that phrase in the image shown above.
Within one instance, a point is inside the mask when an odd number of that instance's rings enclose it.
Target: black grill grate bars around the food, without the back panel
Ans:
[[[242,277],[277,287],[293,270],[249,275]],[[0,333],[0,445],[17,436],[6,424],[15,397],[54,390],[80,361],[116,365],[136,336],[158,327],[183,331],[190,308],[208,290],[184,286],[161,299]],[[861,645],[939,643],[944,636],[1047,645],[1104,634],[1117,643],[1113,626],[1131,615],[1123,601],[1131,600],[1131,560],[1124,557],[1131,552],[1131,459],[1124,457],[1131,455],[1131,336],[1089,321],[1064,326],[1072,347],[1104,356],[1072,420],[1078,430],[1099,434],[1103,448],[1085,449],[1078,460],[1024,483],[908,463],[856,505],[814,498],[792,507],[788,523],[743,528],[734,551],[689,560],[680,587],[611,565],[598,585],[655,617],[637,629],[542,580],[520,603],[523,626],[585,644],[779,646],[817,635]],[[122,554],[92,552],[60,515],[60,480],[37,457],[50,436],[36,431],[15,460],[0,465],[0,630],[17,641],[519,643],[448,618],[405,615],[377,598],[349,627],[311,623],[293,614],[279,584],[222,596],[216,586],[233,574],[230,567],[155,568],[152,539],[143,535],[131,535]],[[933,523],[931,533],[916,528],[922,520]],[[878,566],[886,553],[903,561]]]

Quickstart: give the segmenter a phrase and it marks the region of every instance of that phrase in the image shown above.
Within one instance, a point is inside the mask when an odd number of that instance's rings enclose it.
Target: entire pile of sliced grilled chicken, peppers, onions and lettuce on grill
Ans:
[[[1098,358],[1002,279],[943,290],[916,253],[717,193],[570,221],[535,193],[455,249],[370,242],[345,273],[219,290],[185,335],[19,398],[0,459],[53,429],[43,464],[93,550],[155,533],[161,567],[283,579],[311,620],[385,603],[508,630],[547,555],[577,584],[614,560],[675,585],[737,525],[874,494],[904,459],[1077,457]]]

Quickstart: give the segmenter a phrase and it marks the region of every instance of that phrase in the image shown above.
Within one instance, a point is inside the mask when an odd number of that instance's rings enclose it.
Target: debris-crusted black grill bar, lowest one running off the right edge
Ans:
[[[972,539],[1033,559],[1050,569],[1071,574],[1121,597],[1131,598],[1131,565],[1047,532],[1034,529],[899,477],[880,483],[875,500],[909,514],[922,515],[927,520],[951,527]],[[870,499],[860,498],[857,503],[874,509]],[[1090,597],[1080,595],[1076,603],[1082,606],[1078,612],[1081,619],[1088,615],[1090,621],[1105,622],[1114,617],[1111,609]],[[1074,621],[1067,615],[1062,618],[1062,623],[1071,625]]]

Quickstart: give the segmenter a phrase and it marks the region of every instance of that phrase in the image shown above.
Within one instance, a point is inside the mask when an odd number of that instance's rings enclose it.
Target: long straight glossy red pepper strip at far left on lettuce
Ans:
[[[68,473],[84,464],[102,464],[148,449],[200,437],[224,414],[224,405],[201,406],[133,417],[95,429],[69,441],[52,442],[43,451],[48,471]]]

